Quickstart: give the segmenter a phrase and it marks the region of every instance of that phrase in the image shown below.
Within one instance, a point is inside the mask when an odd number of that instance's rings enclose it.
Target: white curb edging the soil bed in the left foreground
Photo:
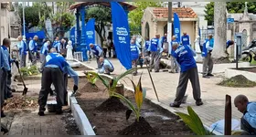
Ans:
[[[71,97],[72,92],[68,93],[68,103],[71,108],[73,117],[76,121],[77,126],[80,129],[81,135],[96,135],[91,127],[91,123],[86,117],[84,111],[80,108],[78,101],[75,97]]]

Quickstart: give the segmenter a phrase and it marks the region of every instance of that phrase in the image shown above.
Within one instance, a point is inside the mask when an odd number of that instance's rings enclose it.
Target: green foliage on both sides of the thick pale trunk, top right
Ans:
[[[256,2],[248,2],[248,12],[256,14]],[[227,2],[227,10],[229,13],[243,13],[244,2]],[[208,25],[212,25],[214,19],[214,2],[210,2],[205,7],[205,19],[208,20]]]

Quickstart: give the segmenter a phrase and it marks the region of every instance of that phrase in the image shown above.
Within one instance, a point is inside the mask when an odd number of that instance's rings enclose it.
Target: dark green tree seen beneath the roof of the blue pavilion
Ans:
[[[105,26],[110,26],[112,22],[111,8],[102,5],[91,6],[86,9],[87,22],[90,18],[95,18],[95,31],[101,38],[101,45],[106,34]]]

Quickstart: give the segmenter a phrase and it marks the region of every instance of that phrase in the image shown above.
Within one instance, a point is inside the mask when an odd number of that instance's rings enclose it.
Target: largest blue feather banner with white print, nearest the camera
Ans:
[[[112,2],[112,33],[117,58],[124,68],[132,68],[130,47],[130,29],[128,16],[123,7],[117,2]]]

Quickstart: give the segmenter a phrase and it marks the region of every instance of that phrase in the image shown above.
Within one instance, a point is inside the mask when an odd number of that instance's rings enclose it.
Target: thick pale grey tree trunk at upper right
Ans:
[[[214,3],[214,48],[212,57],[216,59],[228,57],[225,53],[227,42],[226,5],[226,2]]]

